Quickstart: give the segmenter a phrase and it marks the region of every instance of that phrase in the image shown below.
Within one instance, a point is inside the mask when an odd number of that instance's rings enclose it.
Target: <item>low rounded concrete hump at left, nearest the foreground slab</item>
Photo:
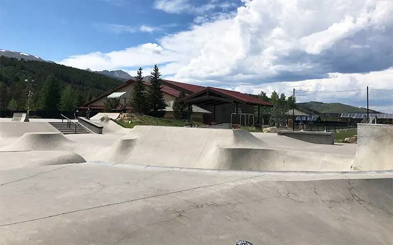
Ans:
[[[79,154],[64,151],[0,152],[0,159],[0,170],[86,162]]]

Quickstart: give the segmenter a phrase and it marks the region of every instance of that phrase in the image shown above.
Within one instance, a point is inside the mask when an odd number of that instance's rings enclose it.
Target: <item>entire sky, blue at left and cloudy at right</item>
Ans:
[[[393,89],[391,0],[0,0],[0,23],[0,49],[81,69],[158,64],[247,93]],[[304,100],[330,96],[316,94]]]

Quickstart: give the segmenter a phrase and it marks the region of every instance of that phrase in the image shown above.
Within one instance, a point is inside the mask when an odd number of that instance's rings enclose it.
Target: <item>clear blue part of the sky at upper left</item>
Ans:
[[[240,1],[239,1],[240,2]],[[155,42],[164,33],[187,28],[191,14],[168,14],[154,1],[126,0],[0,0],[0,47],[43,59],[121,50]],[[116,26],[165,29],[155,32],[116,33]]]

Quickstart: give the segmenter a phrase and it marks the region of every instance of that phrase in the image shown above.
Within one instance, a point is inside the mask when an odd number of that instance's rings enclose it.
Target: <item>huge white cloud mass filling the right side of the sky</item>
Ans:
[[[179,13],[191,3],[160,0],[155,7]],[[243,92],[385,88],[392,84],[391,40],[391,0],[242,0],[235,12],[201,15],[157,43],[61,63],[94,70],[159,64],[171,79]]]

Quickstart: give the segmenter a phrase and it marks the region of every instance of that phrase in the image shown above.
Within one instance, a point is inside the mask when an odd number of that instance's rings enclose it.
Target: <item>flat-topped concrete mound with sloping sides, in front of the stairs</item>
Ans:
[[[75,144],[62,133],[25,133],[1,151],[70,151]]]

